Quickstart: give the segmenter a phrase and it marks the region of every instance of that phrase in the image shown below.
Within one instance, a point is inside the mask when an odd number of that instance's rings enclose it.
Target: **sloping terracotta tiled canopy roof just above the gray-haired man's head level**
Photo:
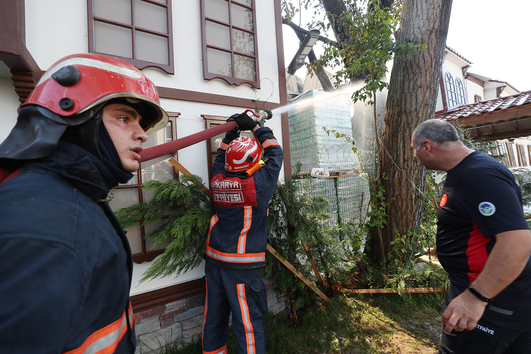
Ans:
[[[512,94],[511,96],[498,97],[491,100],[470,103],[468,105],[453,108],[447,112],[437,114],[435,115],[435,118],[442,120],[455,120],[529,104],[531,104],[531,90]]]

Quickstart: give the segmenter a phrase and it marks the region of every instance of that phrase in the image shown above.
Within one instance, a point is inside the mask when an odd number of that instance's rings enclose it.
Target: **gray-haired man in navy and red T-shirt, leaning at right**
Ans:
[[[419,124],[411,146],[427,169],[447,172],[437,211],[437,255],[450,279],[439,353],[531,352],[531,232],[514,176],[439,119]]]

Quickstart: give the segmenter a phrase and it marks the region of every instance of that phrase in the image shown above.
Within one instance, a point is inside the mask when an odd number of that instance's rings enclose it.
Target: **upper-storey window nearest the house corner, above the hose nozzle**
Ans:
[[[260,88],[256,0],[201,0],[203,76]]]

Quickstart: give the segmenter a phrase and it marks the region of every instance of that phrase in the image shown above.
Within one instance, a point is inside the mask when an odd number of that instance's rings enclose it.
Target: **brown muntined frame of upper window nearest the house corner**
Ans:
[[[241,2],[238,2],[237,0],[226,0],[226,1],[228,1],[228,6],[229,6],[229,23],[220,22],[220,21],[212,19],[212,18],[207,18],[205,16],[205,11],[204,11],[204,8],[205,8],[204,1],[205,0],[201,0],[201,40],[202,40],[202,47],[203,47],[203,78],[204,78],[204,80],[222,79],[222,80],[225,80],[228,84],[231,84],[231,85],[239,86],[241,84],[246,83],[246,84],[250,84],[255,89],[260,89],[260,73],[259,73],[259,65],[258,65],[258,38],[256,36],[256,34],[258,33],[258,31],[256,30],[256,0],[252,0],[251,3],[253,4],[253,6],[247,6],[247,5],[245,5],[245,4],[241,3]],[[241,28],[241,27],[233,26],[233,24],[231,23],[231,19],[230,19],[230,16],[231,16],[230,10],[231,10],[231,6],[232,6],[233,2],[235,2],[239,6],[248,8],[249,10],[253,11],[253,29],[254,29],[254,32],[246,30],[246,29]],[[206,21],[207,20],[215,22],[215,23],[219,23],[219,24],[222,24],[222,25],[228,25],[228,27],[229,27],[229,36],[230,36],[230,50],[228,50],[226,48],[221,48],[221,47],[207,45],[207,29],[206,29]],[[236,28],[239,31],[244,31],[244,32],[253,34],[253,36],[254,36],[254,56],[252,56],[250,54],[240,53],[240,52],[237,52],[237,51],[234,50],[233,41],[232,41],[232,38],[233,38],[233,36],[232,36],[233,27]],[[221,51],[225,51],[227,53],[230,53],[230,59],[231,59],[231,65],[232,65],[233,74],[235,72],[234,71],[234,54],[235,53],[237,55],[242,55],[242,56],[245,56],[245,57],[248,57],[248,58],[253,58],[254,61],[255,61],[254,64],[256,66],[256,81],[239,79],[238,77],[233,77],[233,76],[225,76],[225,75],[220,75],[220,74],[209,73],[208,72],[208,60],[207,60],[207,48],[217,49],[217,50],[221,50]]]

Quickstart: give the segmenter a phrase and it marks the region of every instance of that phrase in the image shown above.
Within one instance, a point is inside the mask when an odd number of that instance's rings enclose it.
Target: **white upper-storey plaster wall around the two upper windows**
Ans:
[[[143,72],[161,87],[240,98],[258,98],[279,103],[277,36],[273,2],[256,2],[255,13],[260,90],[253,90],[249,84],[235,86],[221,79],[210,81],[203,79],[199,1],[172,2],[175,74],[166,74],[158,68],[151,67],[145,68]],[[27,0],[25,14],[27,47],[42,70],[47,70],[66,55],[88,52],[86,0]]]

